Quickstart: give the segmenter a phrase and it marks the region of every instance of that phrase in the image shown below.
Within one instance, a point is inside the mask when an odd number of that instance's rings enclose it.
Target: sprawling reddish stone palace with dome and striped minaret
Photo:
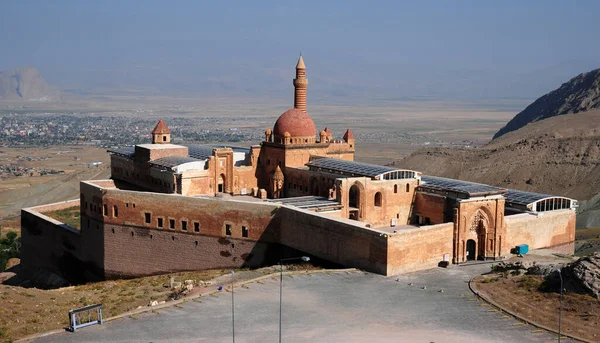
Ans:
[[[354,161],[355,138],[317,132],[306,66],[294,107],[251,147],[152,143],[111,149],[111,179],[80,199],[22,210],[22,265],[70,280],[261,266],[309,254],[393,275],[516,245],[572,253],[576,200]],[[81,229],[46,215],[80,206]]]

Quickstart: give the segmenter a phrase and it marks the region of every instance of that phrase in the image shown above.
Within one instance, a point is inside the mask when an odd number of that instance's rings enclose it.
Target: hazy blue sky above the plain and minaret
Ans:
[[[600,67],[600,1],[0,1],[0,69],[71,89],[533,97]],[[314,96],[318,98],[319,96]]]

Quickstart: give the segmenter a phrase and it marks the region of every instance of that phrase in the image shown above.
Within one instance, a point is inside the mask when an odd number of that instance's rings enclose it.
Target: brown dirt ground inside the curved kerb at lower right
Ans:
[[[542,281],[542,276],[488,274],[476,277],[473,288],[523,318],[558,330],[560,295],[539,291]],[[600,300],[563,294],[562,332],[600,341]]]

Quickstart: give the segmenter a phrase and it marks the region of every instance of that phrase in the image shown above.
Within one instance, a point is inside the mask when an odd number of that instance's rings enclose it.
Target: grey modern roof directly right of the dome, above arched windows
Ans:
[[[334,173],[334,174],[341,174],[341,175],[346,175],[346,176],[350,176],[350,177],[355,177],[355,176],[366,176],[366,177],[370,177],[370,178],[377,178],[379,177],[381,179],[381,176],[387,173],[392,173],[392,172],[402,172],[404,170],[402,169],[397,169],[397,168],[392,168],[392,167],[387,167],[387,166],[380,166],[380,165],[376,165],[376,164],[368,164],[368,163],[360,163],[360,162],[354,162],[354,161],[345,161],[345,160],[340,160],[337,158],[327,158],[327,157],[322,157],[322,158],[315,158],[310,162],[308,162],[306,164],[306,166],[308,166],[311,169],[319,169],[319,170],[324,170],[330,173]],[[413,171],[407,171],[410,173],[406,173],[405,176],[409,177],[409,178],[413,178],[415,177],[415,172]],[[398,174],[400,175],[400,174]],[[402,177],[399,177],[402,178]]]

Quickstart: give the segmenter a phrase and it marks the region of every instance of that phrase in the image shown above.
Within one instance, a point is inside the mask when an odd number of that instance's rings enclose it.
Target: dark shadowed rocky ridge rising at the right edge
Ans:
[[[542,119],[595,108],[600,108],[600,69],[579,74],[537,99],[500,129],[494,139]]]

